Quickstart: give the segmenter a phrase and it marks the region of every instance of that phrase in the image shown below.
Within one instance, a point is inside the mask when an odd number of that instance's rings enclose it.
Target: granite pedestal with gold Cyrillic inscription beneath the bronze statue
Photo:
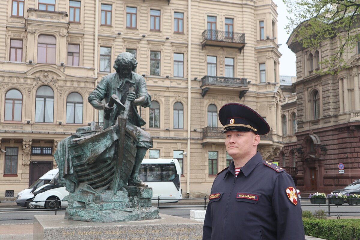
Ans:
[[[83,222],[60,215],[34,217],[33,240],[201,240],[203,223],[159,214],[161,219]]]

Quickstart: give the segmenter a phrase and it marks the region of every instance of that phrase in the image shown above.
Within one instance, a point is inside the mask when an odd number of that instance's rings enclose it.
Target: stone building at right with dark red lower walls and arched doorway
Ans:
[[[305,49],[294,35],[287,44],[296,54],[297,186],[330,193],[360,178],[360,51],[347,51],[347,68],[337,75],[320,76],[314,70],[325,68],[320,62],[334,54],[338,40]],[[345,165],[343,172],[339,163]]]

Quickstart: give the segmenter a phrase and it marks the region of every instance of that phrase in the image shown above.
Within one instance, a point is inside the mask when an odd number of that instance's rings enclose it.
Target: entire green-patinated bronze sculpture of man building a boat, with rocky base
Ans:
[[[122,53],[116,73],[103,77],[89,95],[96,109],[105,110],[102,130],[94,122],[58,144],[54,158],[59,183],[70,192],[65,218],[88,222],[122,222],[160,218],[152,207],[152,188],[139,178],[139,168],[151,136],[136,105],[150,107],[145,80],[131,72],[136,60]],[[107,104],[102,104],[105,99]]]

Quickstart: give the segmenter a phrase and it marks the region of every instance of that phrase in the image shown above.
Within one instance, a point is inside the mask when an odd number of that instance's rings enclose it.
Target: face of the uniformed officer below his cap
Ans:
[[[256,148],[255,133],[253,132],[237,132],[227,131],[225,132],[225,146],[226,151],[232,158],[245,158],[253,153]],[[252,157],[252,156],[251,156]]]

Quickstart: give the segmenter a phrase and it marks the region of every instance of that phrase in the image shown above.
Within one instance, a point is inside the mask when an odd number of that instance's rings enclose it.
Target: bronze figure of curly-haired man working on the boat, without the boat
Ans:
[[[109,107],[108,105],[110,97],[113,94],[116,94],[123,104],[125,104],[126,99],[132,102],[126,128],[137,136],[138,144],[136,146],[137,151],[134,168],[132,169],[127,184],[147,187],[148,185],[139,177],[139,168],[146,151],[153,147],[153,141],[150,134],[140,128],[145,125],[145,121],[139,116],[136,106],[144,108],[150,107],[151,96],[146,89],[144,78],[133,72],[137,65],[138,62],[131,53],[119,54],[113,66],[116,73],[104,76],[95,90],[89,94],[87,100],[95,109],[110,113],[109,120],[104,119],[103,129],[113,126],[121,112],[121,109],[117,108],[116,105],[113,107]],[[130,87],[135,88],[134,92],[129,92]],[[103,99],[105,99],[107,104],[101,103]]]

